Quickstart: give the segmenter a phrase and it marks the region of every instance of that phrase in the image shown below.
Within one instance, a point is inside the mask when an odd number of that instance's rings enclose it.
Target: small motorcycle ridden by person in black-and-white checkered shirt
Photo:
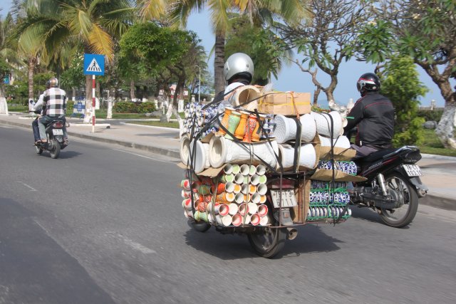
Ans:
[[[37,142],[35,144],[36,154],[48,151],[51,154],[51,158],[55,159],[60,154],[60,151],[68,146],[68,143],[63,140],[63,126],[65,124],[63,119],[56,118],[46,126],[48,142]]]

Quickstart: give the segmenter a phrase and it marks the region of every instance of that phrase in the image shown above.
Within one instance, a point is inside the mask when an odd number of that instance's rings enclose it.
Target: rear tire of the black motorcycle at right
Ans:
[[[393,210],[381,209],[380,218],[385,224],[395,228],[402,228],[415,219],[418,210],[418,194],[406,177],[399,172],[393,172],[385,177],[385,183],[390,189],[400,191],[404,197],[404,204]]]

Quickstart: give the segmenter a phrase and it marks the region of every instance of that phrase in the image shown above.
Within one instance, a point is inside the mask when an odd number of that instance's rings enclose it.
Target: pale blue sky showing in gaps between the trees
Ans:
[[[0,0],[0,8],[3,8],[0,11],[1,16],[5,16],[11,7],[11,0]],[[187,29],[195,31],[199,38],[202,40],[202,46],[209,55],[212,46],[214,46],[215,36],[212,32],[212,26],[209,19],[209,12],[203,11],[202,13],[192,13],[187,23]],[[302,59],[295,53],[295,58]],[[209,58],[209,70],[213,74],[214,72],[214,58],[213,56]],[[359,76],[363,73],[373,72],[374,66],[369,63],[359,62],[359,61],[348,61],[341,63],[341,68],[338,73],[338,85],[334,91],[334,98],[337,103],[341,105],[346,105],[348,100],[353,98],[353,101],[356,101],[360,95],[358,90],[356,90],[356,81]],[[430,77],[424,72],[422,68],[417,66],[417,70],[420,73],[420,81],[429,88],[429,92],[423,97],[420,98],[421,105],[428,106],[430,105],[431,100],[435,100],[437,106],[445,105],[445,101],[440,95],[440,90],[437,88],[435,83],[432,83]],[[317,79],[323,85],[328,85],[329,78],[322,71],[319,71],[317,74]],[[288,91],[292,90],[294,92],[310,92],[314,94],[314,84],[311,81],[311,75],[309,73],[303,73],[299,70],[299,67],[293,63],[292,65],[284,65],[281,72],[278,75],[278,78],[273,78],[271,80],[274,90]],[[455,85],[455,81],[452,81],[452,85]],[[326,95],[320,93],[318,100],[325,100]]]

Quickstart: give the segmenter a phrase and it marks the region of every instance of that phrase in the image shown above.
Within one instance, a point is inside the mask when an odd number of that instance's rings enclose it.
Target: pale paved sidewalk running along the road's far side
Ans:
[[[180,159],[179,132],[176,129],[130,125],[128,120],[98,119],[95,132],[92,133],[92,125],[82,124],[81,119],[67,118],[67,120],[71,124],[68,127],[68,135],[71,137],[133,147]],[[31,118],[21,114],[0,115],[0,124],[25,127],[30,132],[31,122]],[[423,159],[418,162],[418,165],[424,174],[421,180],[429,188],[427,195],[420,199],[420,204],[456,210],[456,157],[423,154]]]

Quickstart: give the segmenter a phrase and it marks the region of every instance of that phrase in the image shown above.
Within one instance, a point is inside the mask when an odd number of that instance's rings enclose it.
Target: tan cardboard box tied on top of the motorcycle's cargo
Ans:
[[[258,111],[274,115],[304,115],[311,112],[311,93],[268,92],[259,99]]]

